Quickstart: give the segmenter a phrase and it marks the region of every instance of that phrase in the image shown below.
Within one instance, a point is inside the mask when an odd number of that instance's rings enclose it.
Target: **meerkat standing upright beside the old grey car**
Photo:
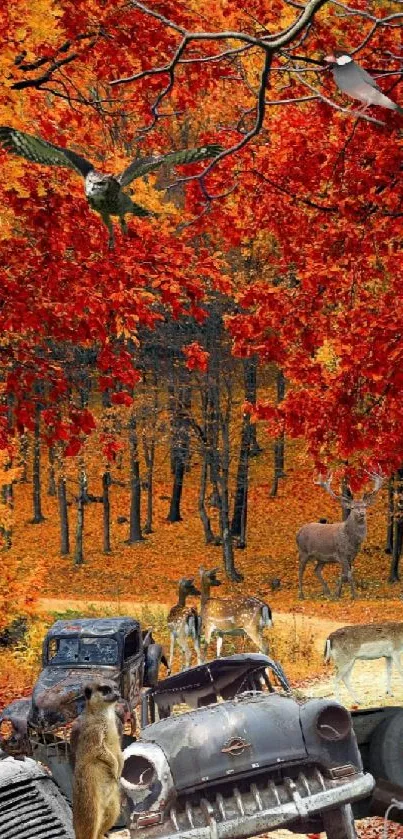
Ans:
[[[76,839],[104,839],[120,812],[119,693],[105,681],[87,685],[84,695],[75,749],[73,825]]]

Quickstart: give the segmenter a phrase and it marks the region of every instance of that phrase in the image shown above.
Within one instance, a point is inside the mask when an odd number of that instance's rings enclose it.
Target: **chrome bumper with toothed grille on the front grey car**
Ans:
[[[314,769],[301,772],[295,780],[285,778],[281,785],[273,781],[264,788],[251,784],[242,794],[234,786],[229,797],[217,793],[214,800],[201,798],[197,806],[186,802],[180,809],[172,807],[158,826],[136,830],[132,824],[132,835],[144,839],[246,839],[365,798],[374,784],[369,774],[329,780]]]

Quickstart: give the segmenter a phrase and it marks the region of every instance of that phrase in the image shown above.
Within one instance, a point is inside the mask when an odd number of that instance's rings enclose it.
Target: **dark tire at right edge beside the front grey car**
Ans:
[[[403,786],[403,710],[377,725],[369,744],[368,769],[375,780]]]

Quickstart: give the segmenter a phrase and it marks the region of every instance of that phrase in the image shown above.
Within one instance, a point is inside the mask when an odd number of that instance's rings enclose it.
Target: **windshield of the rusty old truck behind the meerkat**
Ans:
[[[118,644],[115,638],[51,638],[48,643],[48,664],[117,664]]]

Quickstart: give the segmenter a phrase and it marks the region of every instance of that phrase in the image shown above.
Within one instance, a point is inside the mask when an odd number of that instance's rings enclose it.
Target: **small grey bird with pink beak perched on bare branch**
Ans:
[[[337,87],[343,93],[347,93],[352,99],[358,99],[366,107],[379,105],[381,108],[389,108],[390,111],[403,114],[403,108],[382,93],[375,79],[360,67],[351,55],[336,52],[327,55],[324,61],[331,67]]]

